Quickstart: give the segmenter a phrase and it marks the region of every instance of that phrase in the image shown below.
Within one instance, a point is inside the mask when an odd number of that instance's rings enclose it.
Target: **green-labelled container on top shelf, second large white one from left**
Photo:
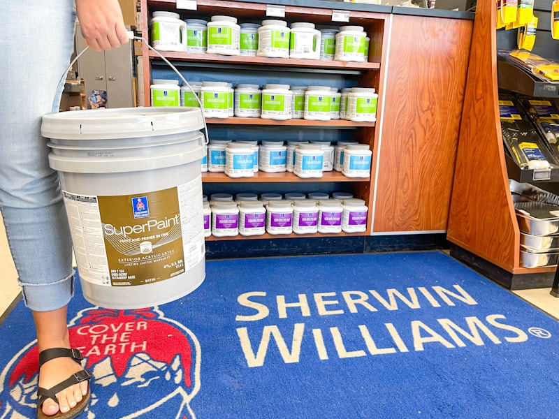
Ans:
[[[240,26],[232,16],[212,16],[208,22],[208,50],[211,54],[239,55]]]

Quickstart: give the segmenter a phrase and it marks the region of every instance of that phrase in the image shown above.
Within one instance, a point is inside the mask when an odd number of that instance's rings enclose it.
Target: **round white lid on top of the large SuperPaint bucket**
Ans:
[[[204,128],[200,108],[115,108],[43,116],[41,135],[59,140],[154,137]]]

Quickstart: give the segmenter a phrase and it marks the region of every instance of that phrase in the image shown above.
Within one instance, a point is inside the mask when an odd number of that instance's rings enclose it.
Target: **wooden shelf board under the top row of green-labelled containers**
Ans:
[[[219,54],[195,54],[193,52],[163,52],[166,59],[177,59],[180,61],[194,61],[196,63],[213,63],[219,64],[249,64],[259,66],[274,67],[303,67],[303,68],[333,68],[337,70],[378,70],[380,63],[377,62],[351,62],[351,61],[326,61],[318,59],[294,59],[294,58],[268,58],[268,57],[247,57],[244,55],[219,55]],[[152,59],[161,59],[156,52],[150,51],[149,57]]]

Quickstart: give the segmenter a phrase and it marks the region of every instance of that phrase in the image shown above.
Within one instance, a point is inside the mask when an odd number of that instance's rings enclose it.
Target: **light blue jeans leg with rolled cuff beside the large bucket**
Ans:
[[[72,244],[41,117],[73,51],[73,0],[0,0],[0,212],[25,304],[50,311],[73,294]]]

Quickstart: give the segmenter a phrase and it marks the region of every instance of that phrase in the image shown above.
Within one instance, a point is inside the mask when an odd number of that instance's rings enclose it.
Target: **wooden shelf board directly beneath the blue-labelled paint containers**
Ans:
[[[263,183],[263,182],[370,182],[370,177],[346,177],[340,172],[324,172],[322,177],[303,178],[291,172],[256,172],[253,177],[228,177],[224,172],[202,173],[204,183]]]

